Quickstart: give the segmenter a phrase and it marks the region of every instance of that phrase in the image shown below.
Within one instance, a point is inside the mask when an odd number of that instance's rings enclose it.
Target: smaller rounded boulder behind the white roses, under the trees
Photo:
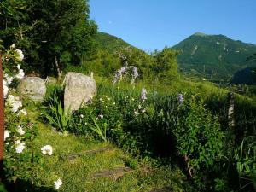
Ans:
[[[46,93],[44,79],[38,77],[26,77],[19,84],[21,96],[28,96],[35,102],[41,102]]]

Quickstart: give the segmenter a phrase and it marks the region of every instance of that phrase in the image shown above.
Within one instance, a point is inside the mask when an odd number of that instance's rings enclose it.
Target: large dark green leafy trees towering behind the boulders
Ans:
[[[87,0],[3,0],[0,36],[25,50],[26,63],[40,73],[58,73],[96,52],[96,24]]]

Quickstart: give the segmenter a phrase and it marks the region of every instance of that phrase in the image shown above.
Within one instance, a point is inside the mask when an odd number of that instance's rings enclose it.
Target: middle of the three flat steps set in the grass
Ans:
[[[134,172],[133,169],[130,167],[119,167],[115,168],[113,170],[106,170],[103,172],[96,172],[92,174],[92,177],[113,177],[113,178],[118,178],[118,177],[123,177],[127,173]]]

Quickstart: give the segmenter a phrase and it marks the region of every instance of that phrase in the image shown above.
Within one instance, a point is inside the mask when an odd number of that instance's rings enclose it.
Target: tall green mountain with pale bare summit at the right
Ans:
[[[255,61],[247,61],[256,53],[256,45],[224,35],[196,32],[172,49],[180,52],[177,61],[183,73],[212,81],[231,80],[236,72],[256,67]]]

